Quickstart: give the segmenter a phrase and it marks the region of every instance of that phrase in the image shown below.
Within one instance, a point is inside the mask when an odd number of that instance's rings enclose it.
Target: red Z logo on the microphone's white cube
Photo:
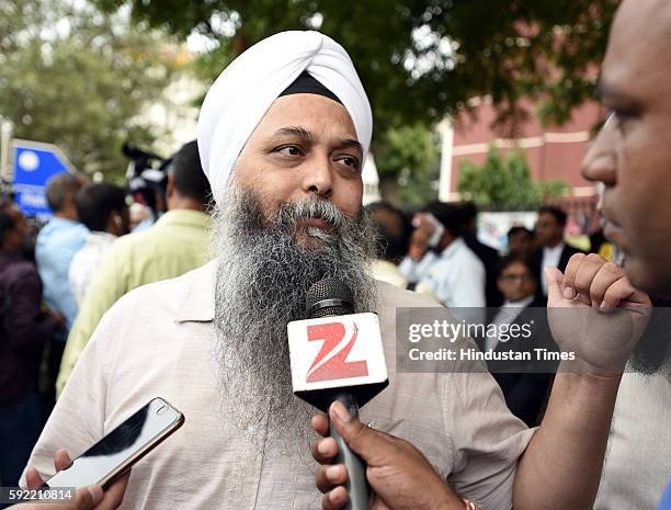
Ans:
[[[310,342],[317,340],[323,341],[321,350],[308,370],[306,378],[308,383],[368,375],[368,364],[365,360],[348,361],[348,355],[352,351],[359,336],[359,327],[355,322],[351,324],[354,327],[351,335],[346,333],[345,325],[342,322],[328,322],[307,327],[307,336]]]

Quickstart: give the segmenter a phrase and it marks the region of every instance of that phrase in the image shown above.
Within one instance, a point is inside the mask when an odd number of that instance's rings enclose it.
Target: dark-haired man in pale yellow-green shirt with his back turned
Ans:
[[[56,382],[62,392],[102,316],[124,294],[179,276],[209,260],[211,189],[195,141],[184,145],[169,169],[168,212],[149,229],[114,241],[98,269],[72,325]]]

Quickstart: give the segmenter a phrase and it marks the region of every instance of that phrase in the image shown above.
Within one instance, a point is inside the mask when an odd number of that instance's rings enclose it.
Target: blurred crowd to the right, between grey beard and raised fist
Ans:
[[[503,253],[478,240],[478,211],[469,202],[432,203],[411,217],[384,202],[368,209],[378,226],[379,260],[373,267],[377,280],[432,297],[469,321],[488,326],[533,320],[534,347],[556,349],[548,342],[545,314],[538,311],[547,304],[541,268],[564,272],[573,254],[583,253],[565,241],[567,214],[560,207],[541,207],[534,230],[511,227]],[[522,349],[515,342],[476,340],[482,351]],[[539,424],[551,375],[523,370],[502,374],[493,363],[490,369],[511,411],[530,427]]]

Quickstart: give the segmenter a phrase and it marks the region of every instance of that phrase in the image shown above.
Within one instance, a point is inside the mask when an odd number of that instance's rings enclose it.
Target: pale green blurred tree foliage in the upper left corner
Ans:
[[[0,113],[14,137],[55,143],[77,169],[121,180],[123,143],[150,145],[162,134],[143,112],[175,71],[166,36],[86,2],[0,2],[0,19],[18,12],[27,20],[0,23]]]

